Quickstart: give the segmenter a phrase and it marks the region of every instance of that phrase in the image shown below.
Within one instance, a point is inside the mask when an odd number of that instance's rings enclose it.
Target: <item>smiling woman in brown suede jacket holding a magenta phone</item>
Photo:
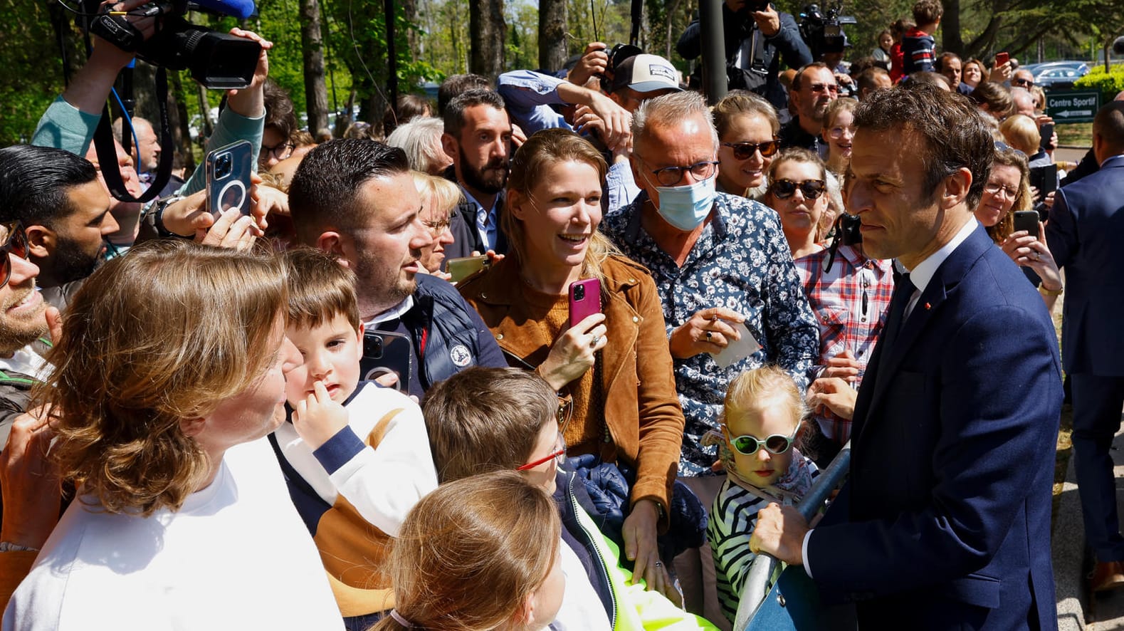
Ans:
[[[510,253],[460,291],[496,334],[511,366],[534,368],[572,411],[569,456],[599,453],[636,470],[625,553],[650,589],[669,582],[656,552],[668,526],[683,414],[663,310],[647,271],[597,232],[608,166],[563,129],[532,136],[511,161],[501,227]],[[569,326],[570,283],[597,278],[601,312]]]

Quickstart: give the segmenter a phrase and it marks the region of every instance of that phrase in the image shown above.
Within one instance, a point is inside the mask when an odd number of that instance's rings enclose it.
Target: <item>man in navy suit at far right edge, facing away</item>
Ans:
[[[1100,170],[1058,190],[1046,242],[1066,269],[1062,352],[1073,388],[1073,463],[1085,537],[1097,557],[1094,591],[1124,585],[1124,537],[1108,449],[1124,407],[1124,101],[1093,121]]]

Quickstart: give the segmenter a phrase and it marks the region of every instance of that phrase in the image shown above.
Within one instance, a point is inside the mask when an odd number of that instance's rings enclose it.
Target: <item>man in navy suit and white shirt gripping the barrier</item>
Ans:
[[[859,390],[850,479],[814,530],[763,510],[750,548],[855,603],[860,629],[1055,629],[1058,340],[972,216],[991,134],[930,85],[876,92],[854,119],[850,211],[867,252],[906,273]]]

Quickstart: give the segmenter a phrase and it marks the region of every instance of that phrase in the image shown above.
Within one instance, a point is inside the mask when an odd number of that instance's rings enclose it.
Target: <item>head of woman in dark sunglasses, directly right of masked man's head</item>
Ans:
[[[763,98],[734,90],[710,111],[718,129],[718,192],[761,200],[765,171],[780,143],[777,110]]]

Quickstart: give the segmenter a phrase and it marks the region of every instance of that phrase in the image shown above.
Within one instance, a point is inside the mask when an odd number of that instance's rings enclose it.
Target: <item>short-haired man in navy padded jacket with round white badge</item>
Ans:
[[[422,249],[433,236],[409,169],[398,147],[365,139],[320,144],[292,177],[289,210],[298,242],[355,271],[366,331],[411,341],[408,391],[420,398],[464,368],[507,361],[461,295],[420,270]]]

